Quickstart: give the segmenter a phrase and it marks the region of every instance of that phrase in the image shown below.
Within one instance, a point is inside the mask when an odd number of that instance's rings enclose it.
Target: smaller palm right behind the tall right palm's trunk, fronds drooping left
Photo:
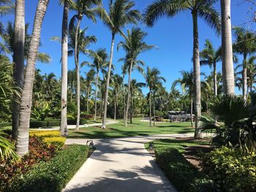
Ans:
[[[172,85],[172,89],[176,87],[177,84],[181,85],[182,91],[187,92],[190,99],[190,118],[191,118],[191,127],[193,127],[193,90],[194,90],[194,77],[193,72],[181,71],[181,78],[175,80]]]

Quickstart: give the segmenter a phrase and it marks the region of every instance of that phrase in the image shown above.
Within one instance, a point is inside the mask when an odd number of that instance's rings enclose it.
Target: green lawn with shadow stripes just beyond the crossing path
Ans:
[[[133,123],[128,123],[124,127],[124,121],[107,125],[102,129],[100,126],[80,128],[80,131],[69,131],[69,138],[86,138],[86,139],[102,139],[102,138],[118,138],[144,136],[150,134],[185,134],[191,133],[194,129],[190,127],[190,123],[157,123],[157,126],[149,126],[149,123],[141,122],[140,118],[134,118]]]

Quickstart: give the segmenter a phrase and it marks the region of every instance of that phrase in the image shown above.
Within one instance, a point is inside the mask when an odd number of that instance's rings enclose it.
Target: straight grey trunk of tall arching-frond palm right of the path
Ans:
[[[201,115],[201,82],[200,82],[200,59],[199,59],[199,42],[198,42],[198,26],[197,12],[192,12],[193,17],[193,66],[194,66],[194,85],[195,85],[195,138],[201,138],[200,120]]]

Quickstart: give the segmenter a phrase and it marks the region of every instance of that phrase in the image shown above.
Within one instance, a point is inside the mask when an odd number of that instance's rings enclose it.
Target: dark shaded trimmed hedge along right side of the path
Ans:
[[[175,148],[156,148],[157,164],[178,191],[215,191],[215,186],[205,174],[187,161]]]

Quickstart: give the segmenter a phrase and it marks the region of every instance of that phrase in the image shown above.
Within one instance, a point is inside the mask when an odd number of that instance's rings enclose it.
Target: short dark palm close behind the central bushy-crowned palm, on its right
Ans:
[[[130,110],[129,110],[129,121],[130,121],[129,123],[131,123],[131,124],[132,124],[132,114],[133,114],[133,108],[134,108],[133,100],[135,98],[135,94],[138,92],[142,93],[141,88],[143,88],[145,86],[146,86],[146,83],[137,82],[137,80],[131,80],[131,82],[130,82],[130,91],[129,92],[132,95],[132,97],[131,97],[131,104],[130,104],[131,106],[130,106]]]

